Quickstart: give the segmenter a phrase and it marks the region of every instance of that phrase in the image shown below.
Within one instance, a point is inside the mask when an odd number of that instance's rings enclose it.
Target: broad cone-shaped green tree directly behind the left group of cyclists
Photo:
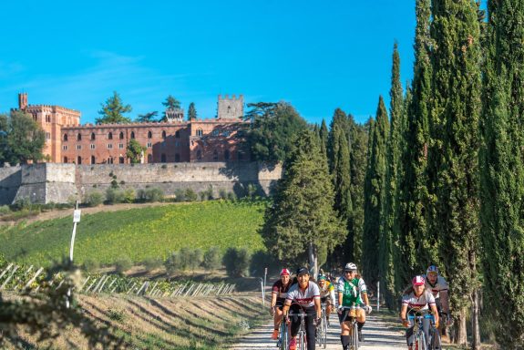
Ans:
[[[264,214],[262,237],[268,251],[283,262],[308,261],[316,274],[319,252],[333,251],[346,234],[333,205],[327,161],[313,131],[304,130]]]

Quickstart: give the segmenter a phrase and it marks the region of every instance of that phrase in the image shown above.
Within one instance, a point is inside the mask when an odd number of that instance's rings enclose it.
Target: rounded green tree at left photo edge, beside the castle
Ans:
[[[26,164],[44,159],[46,134],[33,118],[22,111],[0,115],[0,164]]]

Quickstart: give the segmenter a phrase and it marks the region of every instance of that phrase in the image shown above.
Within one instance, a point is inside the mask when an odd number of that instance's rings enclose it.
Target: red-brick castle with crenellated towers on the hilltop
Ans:
[[[248,161],[243,104],[242,95],[219,95],[216,118],[184,121],[183,109],[168,108],[167,122],[82,126],[77,110],[29,105],[26,93],[18,95],[18,110],[33,116],[46,133],[46,161],[77,165],[127,164],[131,139],[146,147],[142,163]]]

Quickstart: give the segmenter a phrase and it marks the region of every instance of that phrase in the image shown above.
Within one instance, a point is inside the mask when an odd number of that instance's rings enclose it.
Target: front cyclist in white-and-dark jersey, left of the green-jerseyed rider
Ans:
[[[301,319],[298,316],[293,316],[295,313],[303,312],[308,314],[305,317],[305,332],[307,339],[307,350],[314,350],[315,342],[315,324],[321,317],[322,309],[320,306],[320,290],[318,285],[310,281],[309,270],[306,267],[301,267],[296,271],[298,283],[293,284],[287,293],[285,303],[283,304],[283,314],[286,315],[286,321],[291,321],[291,341],[289,349],[296,349],[296,335],[300,328]],[[291,306],[292,303],[293,306]],[[292,317],[288,316],[288,312],[292,308]]]

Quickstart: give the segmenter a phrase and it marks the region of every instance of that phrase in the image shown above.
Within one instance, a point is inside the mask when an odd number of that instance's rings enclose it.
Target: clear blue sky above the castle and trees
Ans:
[[[128,117],[172,95],[200,118],[219,94],[290,102],[310,122],[343,108],[361,122],[389,103],[391,56],[413,76],[414,0],[9,1],[0,5],[0,111],[30,104],[94,122],[118,91]]]

